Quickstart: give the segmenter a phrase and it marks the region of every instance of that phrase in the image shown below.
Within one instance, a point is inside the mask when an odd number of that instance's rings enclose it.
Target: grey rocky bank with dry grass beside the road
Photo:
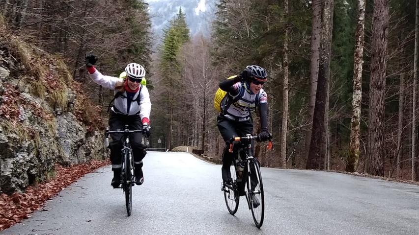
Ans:
[[[78,98],[75,92],[67,92],[67,108],[58,112],[48,101],[30,94],[25,89],[29,85],[19,81],[23,88],[16,95],[23,105],[18,105],[14,121],[7,118],[4,105],[10,95],[5,94],[11,85],[17,86],[14,81],[17,79],[0,63],[0,193],[23,191],[30,184],[54,177],[55,164],[106,159],[103,133],[87,131],[72,113]],[[32,108],[24,105],[29,101]],[[39,110],[48,111],[51,117],[41,117]]]

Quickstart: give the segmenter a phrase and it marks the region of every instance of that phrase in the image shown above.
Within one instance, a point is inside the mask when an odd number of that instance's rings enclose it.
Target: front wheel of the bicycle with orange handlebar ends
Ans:
[[[248,176],[247,182],[249,204],[254,224],[256,227],[260,228],[263,224],[263,218],[265,215],[265,198],[263,193],[262,177],[260,174],[259,163],[256,160],[251,161],[249,165],[251,167],[251,174]],[[251,185],[251,180],[253,180],[253,186]]]

